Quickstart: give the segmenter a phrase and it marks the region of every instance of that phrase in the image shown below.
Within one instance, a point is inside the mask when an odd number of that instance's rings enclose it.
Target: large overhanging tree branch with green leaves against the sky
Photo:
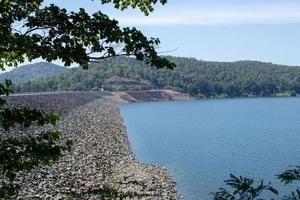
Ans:
[[[68,12],[54,4],[43,6],[42,3],[42,0],[0,2],[1,69],[5,65],[16,66],[25,58],[29,61],[43,58],[48,62],[61,59],[65,66],[79,63],[87,69],[93,60],[120,55],[134,56],[158,68],[175,66],[155,51],[159,39],[147,39],[136,28],[120,28],[118,21],[100,11],[89,15],[83,8]],[[138,6],[147,14],[153,10],[156,0],[114,0],[113,3],[120,9]]]

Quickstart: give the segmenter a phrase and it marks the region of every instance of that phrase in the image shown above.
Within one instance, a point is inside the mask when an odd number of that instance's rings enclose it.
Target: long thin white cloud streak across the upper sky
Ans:
[[[156,10],[149,17],[126,14],[116,16],[116,19],[125,25],[148,26],[298,23],[300,22],[300,3],[171,8]]]

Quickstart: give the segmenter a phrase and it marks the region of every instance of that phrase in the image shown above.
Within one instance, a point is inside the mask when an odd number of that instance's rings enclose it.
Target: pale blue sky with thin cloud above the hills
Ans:
[[[163,54],[202,60],[259,60],[300,66],[299,0],[169,0],[146,17],[99,1],[47,0],[69,10],[100,10],[159,37]],[[170,52],[169,52],[170,51]]]

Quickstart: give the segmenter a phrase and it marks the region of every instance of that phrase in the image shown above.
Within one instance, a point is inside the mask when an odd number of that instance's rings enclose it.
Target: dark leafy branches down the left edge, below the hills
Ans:
[[[11,81],[0,85],[0,95],[9,95]],[[3,98],[0,105],[0,127],[5,131],[16,124],[23,127],[36,125],[55,124],[59,120],[57,113],[46,114],[37,109],[29,107],[8,108]],[[19,186],[14,183],[16,174],[23,170],[29,170],[40,163],[48,164],[57,160],[67,150],[70,150],[72,141],[59,144],[61,137],[58,131],[42,132],[33,137],[26,135],[22,138],[0,138],[0,198],[10,198]]]

